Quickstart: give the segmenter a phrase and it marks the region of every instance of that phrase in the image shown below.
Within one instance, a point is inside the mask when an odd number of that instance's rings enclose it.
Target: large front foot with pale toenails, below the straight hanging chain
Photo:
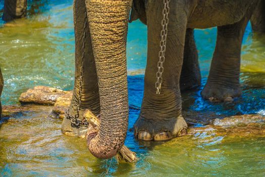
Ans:
[[[167,141],[185,135],[187,127],[181,115],[168,121],[154,121],[139,117],[134,125],[134,135],[143,141]]]

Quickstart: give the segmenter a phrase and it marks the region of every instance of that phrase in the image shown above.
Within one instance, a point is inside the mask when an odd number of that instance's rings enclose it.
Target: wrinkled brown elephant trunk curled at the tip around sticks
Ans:
[[[86,8],[100,97],[99,131],[90,152],[111,158],[122,148],[128,129],[126,38],[132,0],[88,0]]]

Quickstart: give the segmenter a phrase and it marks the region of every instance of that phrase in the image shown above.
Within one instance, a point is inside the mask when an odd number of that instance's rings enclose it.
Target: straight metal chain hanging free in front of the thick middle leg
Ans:
[[[163,20],[161,22],[162,24],[162,30],[161,30],[161,41],[160,41],[160,52],[158,54],[159,61],[157,62],[157,69],[156,72],[156,82],[155,82],[155,88],[156,88],[156,94],[160,95],[161,93],[161,85],[162,85],[162,74],[164,72],[163,64],[165,62],[165,52],[166,52],[166,44],[167,44],[167,34],[168,34],[168,24],[169,24],[169,3],[170,0],[164,0],[164,9],[163,9]]]

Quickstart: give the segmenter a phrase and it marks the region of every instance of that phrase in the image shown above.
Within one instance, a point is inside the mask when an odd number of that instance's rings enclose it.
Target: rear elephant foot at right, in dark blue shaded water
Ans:
[[[201,96],[211,102],[232,102],[234,98],[241,96],[241,89],[240,87],[233,88],[206,84]]]

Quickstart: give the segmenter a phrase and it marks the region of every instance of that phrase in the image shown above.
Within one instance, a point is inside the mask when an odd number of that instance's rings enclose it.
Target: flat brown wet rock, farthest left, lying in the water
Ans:
[[[33,89],[22,93],[19,101],[21,104],[55,105],[58,98],[69,93],[70,91],[63,91],[48,86],[35,86]]]

